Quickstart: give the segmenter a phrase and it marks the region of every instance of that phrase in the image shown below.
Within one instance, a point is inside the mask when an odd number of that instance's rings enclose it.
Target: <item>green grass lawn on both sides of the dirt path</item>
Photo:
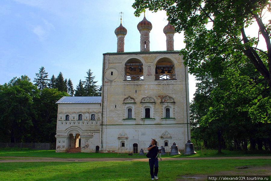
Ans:
[[[241,153],[208,151],[202,156],[237,156]],[[255,154],[251,154],[255,155]],[[55,153],[54,150],[0,150],[1,157],[54,157],[54,158],[114,158],[140,157],[117,156],[116,153]],[[244,155],[238,155],[244,156]],[[266,156],[266,154],[264,155]],[[143,156],[145,158],[145,156]],[[166,157],[166,156],[164,156]],[[177,155],[171,157],[184,157]],[[270,159],[218,159],[218,160],[173,160],[159,161],[159,180],[182,180],[183,175],[215,175],[219,171],[237,170],[235,167],[245,165],[270,165]],[[258,175],[261,174],[259,170]],[[207,179],[207,176],[206,176]],[[0,163],[0,180],[151,180],[148,162],[141,161],[108,161],[108,162],[12,162]]]

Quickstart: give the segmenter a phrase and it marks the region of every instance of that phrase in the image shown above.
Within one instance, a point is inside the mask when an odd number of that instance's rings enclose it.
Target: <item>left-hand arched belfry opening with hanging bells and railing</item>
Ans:
[[[124,80],[143,80],[143,63],[137,58],[131,58],[125,63]]]

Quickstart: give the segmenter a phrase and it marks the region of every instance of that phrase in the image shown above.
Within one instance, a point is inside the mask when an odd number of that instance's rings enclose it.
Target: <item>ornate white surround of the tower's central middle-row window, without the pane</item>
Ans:
[[[154,106],[155,106],[155,100],[153,97],[147,96],[143,97],[140,101],[140,107],[141,107],[141,115],[142,121],[154,121]],[[150,118],[145,118],[145,108],[150,108]]]

